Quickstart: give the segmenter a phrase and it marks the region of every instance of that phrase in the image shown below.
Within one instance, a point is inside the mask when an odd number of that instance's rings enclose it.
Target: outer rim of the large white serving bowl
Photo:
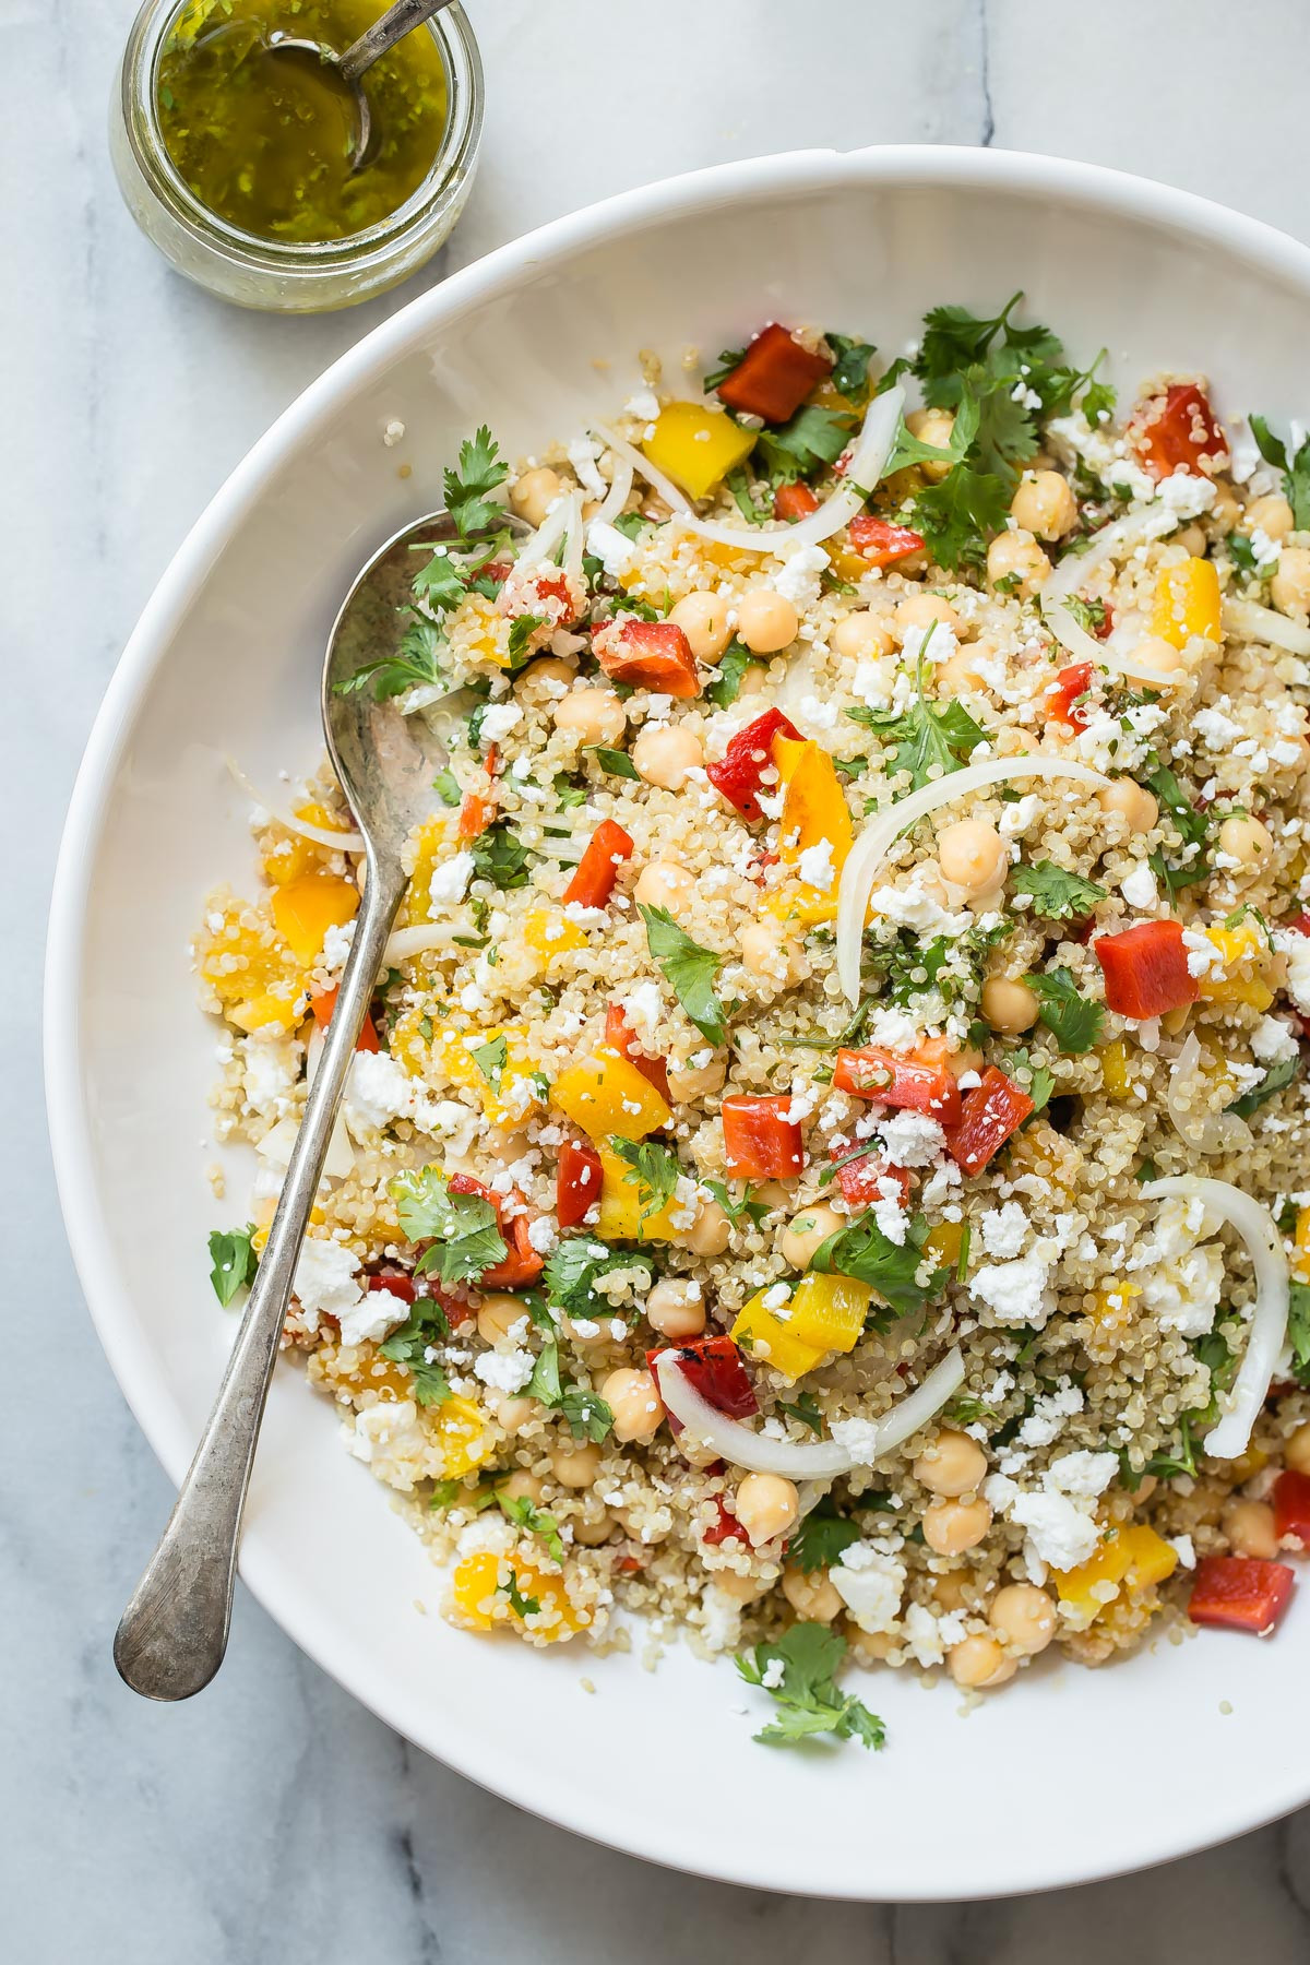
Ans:
[[[314,440],[320,424],[344,397],[391,360],[426,340],[444,320],[456,318],[511,287],[524,269],[540,271],[544,263],[568,261],[573,253],[603,244],[625,228],[727,208],[768,195],[807,195],[825,185],[848,183],[894,185],[898,191],[925,187],[1043,193],[1084,210],[1173,226],[1192,238],[1231,250],[1290,285],[1302,287],[1310,301],[1308,246],[1263,220],[1247,218],[1229,206],[1153,179],[1039,153],[962,145],[898,143],[852,151],[801,149],[664,177],[511,240],[452,273],[444,283],[416,295],[407,307],[361,336],[300,391],[212,495],[141,609],[86,739],[51,888],[43,982],[43,1057],[47,1124],[65,1232],[110,1370],[175,1486],[191,1462],[194,1440],[189,1436],[163,1377],[159,1358],[141,1332],[134,1328],[126,1291],[114,1273],[112,1244],[96,1201],[79,996],[84,973],[92,849],[108,815],[112,784],[134,719],[167,646],[185,623],[194,591],[247,517],[267,477],[281,464],[287,464],[302,444]],[[55,1034],[59,1036],[55,1038]],[[401,1737],[414,1741],[424,1753],[444,1761],[503,1800],[591,1841],[689,1875],[799,1896],[886,1900],[886,1892],[858,1884],[837,1882],[815,1890],[803,1877],[788,1873],[788,1867],[780,1865],[776,1847],[760,1851],[754,1863],[713,1863],[705,1857],[703,1839],[683,1841],[664,1824],[648,1822],[642,1824],[644,1833],[628,1833],[623,1824],[611,1824],[601,1806],[593,1810],[572,1802],[562,1806],[562,1798],[552,1794],[548,1782],[534,1776],[532,1768],[511,1759],[495,1765],[489,1765],[485,1757],[479,1759],[471,1733],[467,1743],[450,1737],[438,1743],[432,1737],[422,1737],[405,1698],[395,1694],[381,1676],[361,1686],[357,1672],[334,1662],[332,1631],[322,1627],[312,1603],[287,1582],[275,1552],[263,1546],[257,1529],[246,1537],[240,1570],[263,1609],[354,1698],[361,1700]],[[1006,1869],[996,1879],[988,1879],[984,1890],[974,1886],[962,1892],[949,1884],[947,1888],[911,1888],[898,1892],[898,1900],[951,1902],[962,1894],[980,1898],[1064,1888],[1129,1875],[1214,1847],[1310,1800],[1310,1770],[1292,1774],[1290,1768],[1271,1767],[1269,1774],[1271,1780],[1259,1796],[1231,1794],[1228,1810],[1216,1814],[1200,1843],[1186,1831],[1178,1831],[1171,1822],[1173,1812],[1163,1810],[1151,1824],[1137,1824],[1135,1849],[1127,1861],[1106,1865],[1104,1861],[1096,1863],[1094,1857],[1064,1851],[1063,1861],[1053,1863],[1047,1849],[1041,1863],[1031,1863],[1023,1849],[1013,1849]]]

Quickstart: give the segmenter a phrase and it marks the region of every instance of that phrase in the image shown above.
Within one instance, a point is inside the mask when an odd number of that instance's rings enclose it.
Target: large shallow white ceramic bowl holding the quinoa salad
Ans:
[[[204,1238],[244,1218],[247,1177],[224,1203],[206,1183],[214,1030],[187,953],[204,890],[253,867],[224,753],[265,786],[314,762],[336,603],[375,542],[436,503],[442,462],[479,421],[530,452],[630,393],[640,348],[666,356],[674,385],[687,344],[713,356],[774,316],[896,352],[927,307],[1000,305],[1015,287],[1080,360],[1108,344],[1129,387],[1196,367],[1229,411],[1306,413],[1310,252],[1281,234],[1039,157],[799,153],[613,198],[458,273],[306,389],[208,507],[86,749],[47,971],[73,1252],[175,1480],[232,1332]],[[389,450],[397,417],[405,446]],[[968,1719],[951,1686],[886,1670],[860,1688],[888,1719],[884,1753],[766,1749],[750,1739],[758,1694],[727,1660],[676,1649],[650,1676],[636,1656],[540,1655],[446,1627],[436,1570],[295,1372],[273,1387],[242,1572],[310,1656],[428,1753],[599,1841],[758,1888],[905,1900],[1080,1882],[1310,1796],[1310,1590],[1275,1643],[1206,1633],[1100,1672],[1049,1662]],[[947,1837],[943,1782],[964,1798]]]

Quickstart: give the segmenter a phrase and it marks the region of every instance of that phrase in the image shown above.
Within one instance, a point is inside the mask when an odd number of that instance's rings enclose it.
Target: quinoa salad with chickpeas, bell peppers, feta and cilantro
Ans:
[[[1269,1637],[1310,1541],[1310,440],[1204,375],[1118,401],[1015,295],[894,358],[646,360],[517,468],[479,428],[442,501],[346,682],[448,764],[285,1356],[444,1613],[683,1635],[760,1739],[870,1747],[852,1664],[972,1698]],[[352,823],[326,766],[265,804],[196,935],[257,1165],[224,1305]]]

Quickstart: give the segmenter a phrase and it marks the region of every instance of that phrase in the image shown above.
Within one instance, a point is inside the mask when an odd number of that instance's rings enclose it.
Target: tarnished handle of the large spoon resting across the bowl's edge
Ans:
[[[114,1637],[114,1664],[132,1690],[149,1700],[187,1700],[200,1692],[228,1649],[246,1489],[297,1260],[355,1038],[403,892],[405,872],[399,861],[379,865],[369,853],[363,908],[328,1041],[308,1091],[304,1120],[232,1358],[169,1525]]]

